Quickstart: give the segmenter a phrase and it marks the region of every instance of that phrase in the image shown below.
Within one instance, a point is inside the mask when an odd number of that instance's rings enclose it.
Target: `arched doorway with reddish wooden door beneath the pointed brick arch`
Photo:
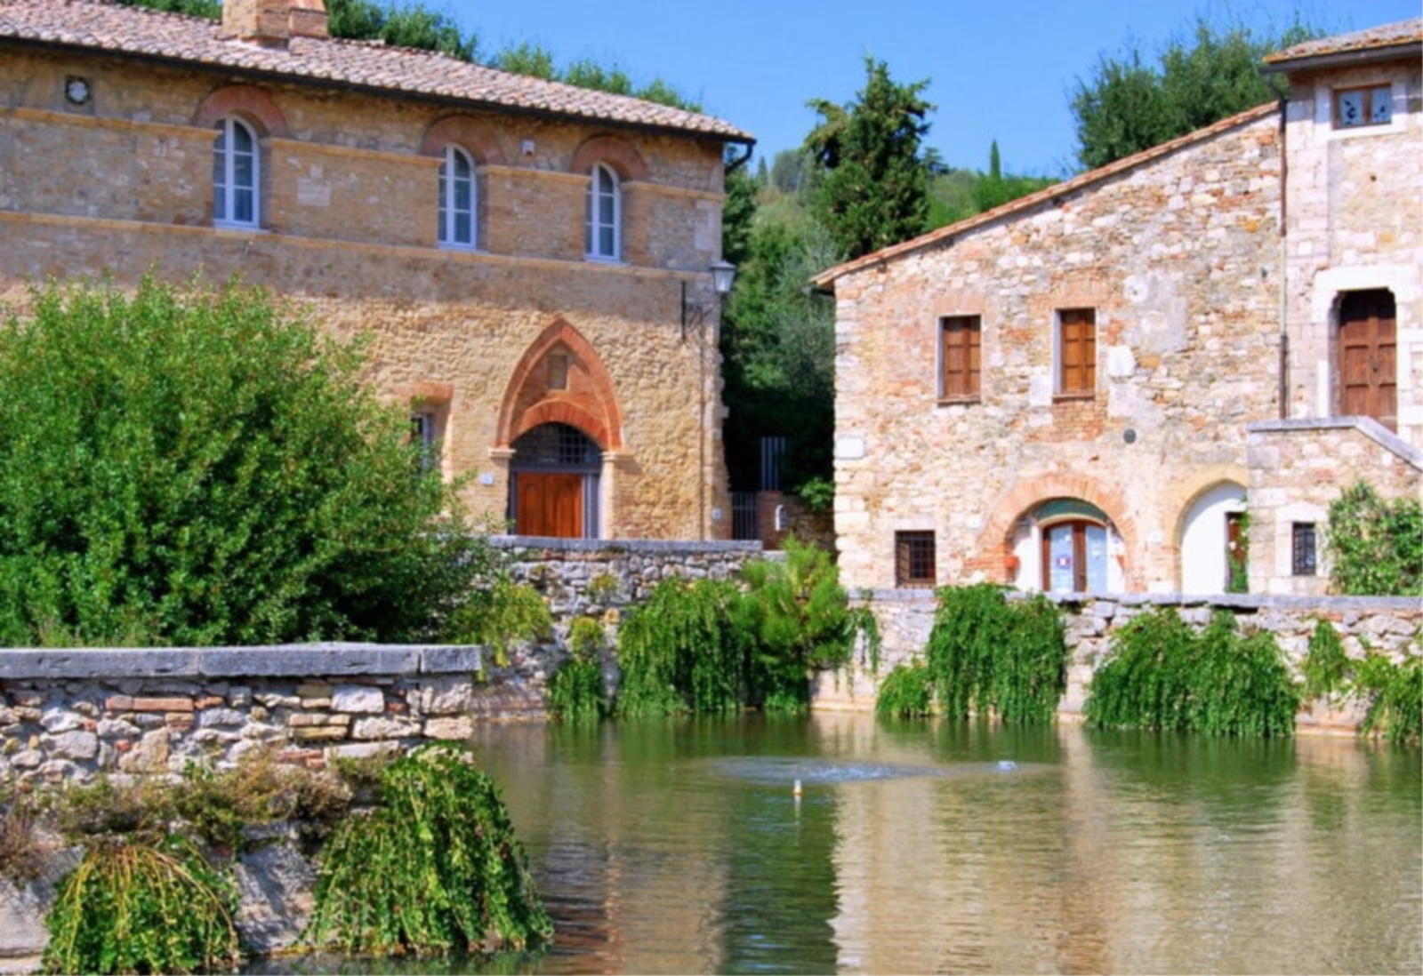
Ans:
[[[511,445],[509,512],[517,535],[599,538],[602,450],[571,424],[539,424]]]

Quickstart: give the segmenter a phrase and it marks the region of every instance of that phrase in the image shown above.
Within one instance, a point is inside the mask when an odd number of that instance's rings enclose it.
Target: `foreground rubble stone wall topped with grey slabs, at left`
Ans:
[[[499,706],[481,664],[461,646],[4,649],[0,783],[225,768],[258,748],[322,767],[462,740]]]

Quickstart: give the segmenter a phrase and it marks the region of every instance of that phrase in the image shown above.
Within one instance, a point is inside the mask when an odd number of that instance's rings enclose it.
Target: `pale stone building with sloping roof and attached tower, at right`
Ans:
[[[1420,51],[820,275],[844,582],[1323,592],[1329,501],[1423,484]]]

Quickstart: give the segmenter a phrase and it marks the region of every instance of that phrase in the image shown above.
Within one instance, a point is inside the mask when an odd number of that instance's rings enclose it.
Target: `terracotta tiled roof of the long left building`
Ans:
[[[313,37],[293,37],[286,47],[262,47],[223,40],[218,33],[218,21],[104,0],[0,0],[0,38],[437,95],[481,107],[650,127],[729,142],[753,141],[750,134],[712,115],[508,74],[445,54]]]

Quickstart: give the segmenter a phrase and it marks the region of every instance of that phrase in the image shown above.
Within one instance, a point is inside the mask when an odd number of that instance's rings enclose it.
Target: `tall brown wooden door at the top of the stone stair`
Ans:
[[[1339,413],[1399,428],[1396,310],[1390,292],[1350,292],[1339,304]]]

